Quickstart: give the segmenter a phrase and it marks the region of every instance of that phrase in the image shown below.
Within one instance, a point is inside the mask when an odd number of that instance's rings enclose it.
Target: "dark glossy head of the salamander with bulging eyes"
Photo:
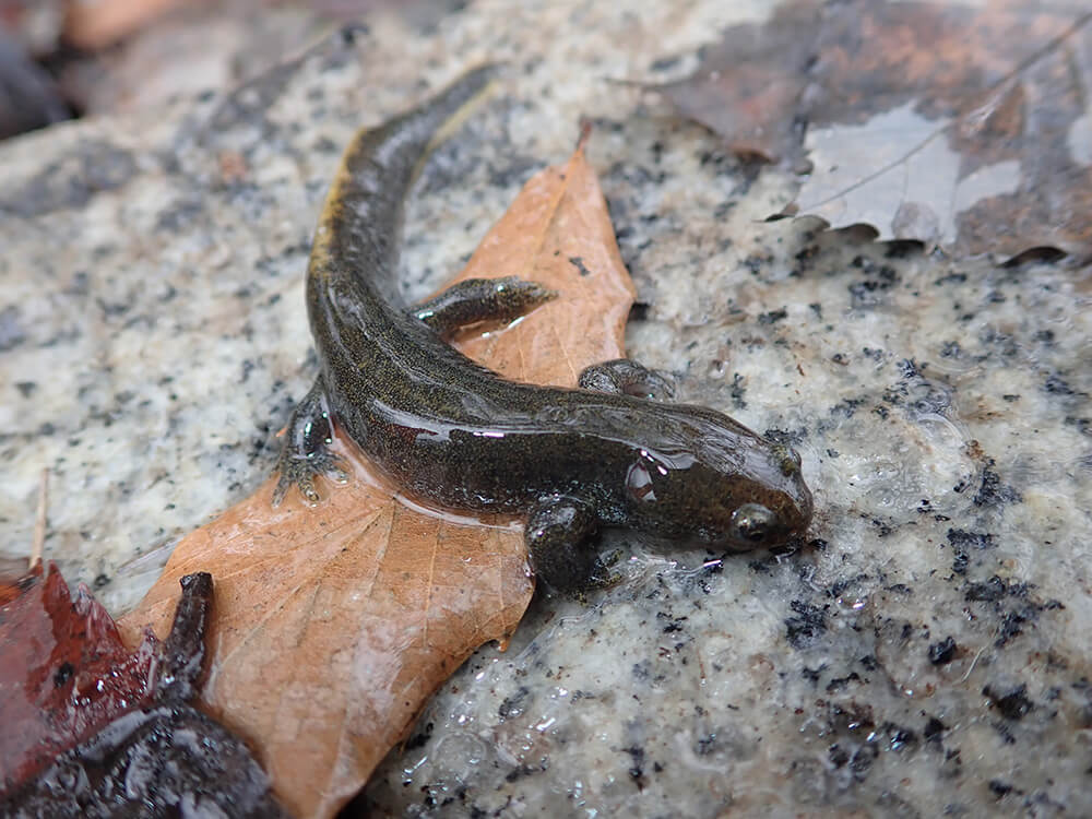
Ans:
[[[677,410],[692,414],[662,427],[658,446],[633,452],[625,478],[630,525],[733,551],[799,538],[812,509],[800,456],[720,413]]]

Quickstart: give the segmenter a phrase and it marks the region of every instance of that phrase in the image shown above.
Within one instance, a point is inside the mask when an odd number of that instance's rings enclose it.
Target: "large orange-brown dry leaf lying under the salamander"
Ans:
[[[582,149],[532,178],[461,277],[519,275],[557,299],[459,346],[520,380],[574,385],[622,355],[633,286]],[[302,309],[302,305],[300,306]],[[339,442],[340,452],[347,452]],[[120,622],[167,627],[178,578],[216,581],[203,707],[248,737],[302,816],[334,814],[402,738],[431,692],[531,600],[522,533],[413,508],[358,479],[309,509],[273,509],[273,482],[193,532]]]

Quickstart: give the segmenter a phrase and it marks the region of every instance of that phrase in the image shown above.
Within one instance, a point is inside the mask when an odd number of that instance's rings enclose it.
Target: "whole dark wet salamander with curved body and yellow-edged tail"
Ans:
[[[293,486],[341,474],[331,416],[411,494],[526,520],[536,573],[579,589],[603,579],[585,542],[603,525],[744,550],[782,545],[811,518],[799,456],[713,410],[670,405],[669,385],[628,360],[590,367],[585,389],[506,380],[448,345],[477,321],[510,321],[553,294],[515,278],[463,282],[416,309],[394,287],[403,201],[436,132],[487,85],[478,69],[345,152],[319,219],[307,306],[321,363],[278,464]]]

